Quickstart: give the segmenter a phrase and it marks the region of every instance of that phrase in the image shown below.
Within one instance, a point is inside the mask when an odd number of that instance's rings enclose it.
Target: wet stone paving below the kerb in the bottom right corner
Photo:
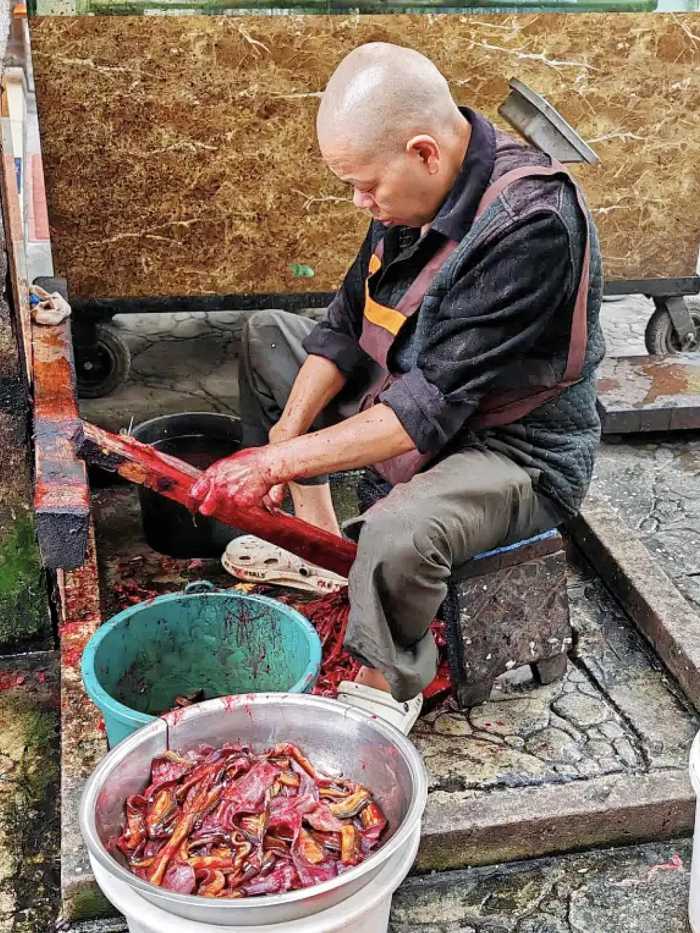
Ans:
[[[690,933],[691,846],[604,849],[409,878],[390,933]]]

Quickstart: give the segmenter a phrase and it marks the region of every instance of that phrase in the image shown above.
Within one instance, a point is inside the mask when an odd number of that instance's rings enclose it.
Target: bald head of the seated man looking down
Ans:
[[[386,42],[361,45],[342,60],[316,129],[324,161],[353,186],[355,206],[411,227],[434,218],[471,132],[435,65]]]

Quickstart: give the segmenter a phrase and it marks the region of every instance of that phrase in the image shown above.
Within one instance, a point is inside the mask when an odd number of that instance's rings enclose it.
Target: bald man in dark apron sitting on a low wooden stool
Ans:
[[[351,52],[321,100],[328,168],[371,216],[317,325],[252,317],[241,414],[252,449],[195,488],[340,533],[327,474],[387,494],[356,522],[339,699],[408,732],[435,676],[429,625],[453,568],[573,516],[600,424],[598,238],[562,166],[458,107],[411,49]]]

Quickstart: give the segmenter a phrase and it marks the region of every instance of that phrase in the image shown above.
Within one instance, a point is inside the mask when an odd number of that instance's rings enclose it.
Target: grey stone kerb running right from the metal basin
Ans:
[[[690,833],[695,796],[685,771],[593,778],[469,799],[428,799],[416,870],[445,871]]]

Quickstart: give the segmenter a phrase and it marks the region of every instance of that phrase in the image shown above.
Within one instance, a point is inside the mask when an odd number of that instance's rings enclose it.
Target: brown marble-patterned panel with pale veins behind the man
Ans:
[[[369,40],[425,52],[496,122],[510,77],[544,94],[601,157],[576,173],[608,278],[694,273],[692,15],[37,18],[51,237],[72,293],[334,288],[366,220],[323,167],[314,117],[337,62]]]

